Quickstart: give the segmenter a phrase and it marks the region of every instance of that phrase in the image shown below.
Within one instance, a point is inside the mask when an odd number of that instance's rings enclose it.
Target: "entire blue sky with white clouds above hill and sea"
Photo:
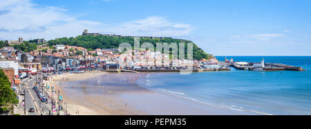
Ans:
[[[311,56],[310,0],[1,0],[0,40],[188,39],[216,56]]]

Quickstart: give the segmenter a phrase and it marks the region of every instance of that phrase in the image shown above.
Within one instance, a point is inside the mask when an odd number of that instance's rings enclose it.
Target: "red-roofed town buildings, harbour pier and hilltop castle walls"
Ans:
[[[102,35],[99,33],[88,33],[84,30],[82,35]],[[115,34],[104,34],[109,37],[122,37]],[[140,37],[150,39],[164,39],[170,37]],[[180,39],[182,40],[182,39]],[[238,70],[254,70],[254,71],[271,71],[271,70],[303,70],[302,68],[294,68],[283,64],[264,63],[247,63],[234,62],[233,59],[225,59],[225,61],[218,61],[216,58],[201,59],[201,60],[187,60],[187,59],[170,59],[169,63],[164,64],[164,61],[152,60],[142,61],[142,59],[162,57],[169,59],[169,55],[161,52],[151,52],[144,50],[136,52],[123,52],[118,48],[108,48],[90,50],[77,46],[55,45],[48,46],[45,39],[35,39],[32,42],[38,44],[35,50],[29,52],[22,52],[15,49],[16,45],[23,43],[23,38],[18,41],[4,41],[6,47],[0,49],[0,68],[4,70],[9,77],[10,82],[19,84],[25,77],[35,75],[39,72],[81,72],[83,70],[106,70],[116,71],[133,70],[137,72],[179,72],[180,69],[185,69],[189,64],[193,66],[194,72],[205,71],[223,71],[230,70],[232,66]],[[139,54],[140,59],[134,59],[133,55],[129,53]],[[132,56],[129,62],[129,56]],[[265,66],[265,64],[267,66]]]

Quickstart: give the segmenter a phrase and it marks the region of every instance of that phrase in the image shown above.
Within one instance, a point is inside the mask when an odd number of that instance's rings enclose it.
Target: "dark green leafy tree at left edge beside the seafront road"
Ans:
[[[17,95],[10,87],[8,77],[0,69],[0,112],[13,110],[13,106],[19,102]]]

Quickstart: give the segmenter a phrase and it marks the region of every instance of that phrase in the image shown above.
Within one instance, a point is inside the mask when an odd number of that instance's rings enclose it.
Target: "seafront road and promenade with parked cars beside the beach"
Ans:
[[[62,109],[64,103],[58,104],[58,96],[52,95],[51,89],[47,89],[44,81],[42,81],[43,76],[36,75],[30,79],[29,77],[21,81],[21,86],[17,88],[17,96],[19,97],[19,103],[14,108],[13,114],[18,115],[66,115],[65,110]],[[25,84],[25,85],[23,85]],[[37,86],[39,91],[46,96],[47,102],[41,102],[37,96],[33,87]],[[21,95],[24,92],[24,95]],[[61,101],[62,102],[62,101]],[[54,103],[54,106],[52,106]],[[58,107],[59,106],[59,107]],[[29,112],[30,108],[34,108],[35,112]],[[54,112],[53,112],[54,109]],[[63,108],[64,109],[64,108]],[[69,114],[69,113],[68,113]]]

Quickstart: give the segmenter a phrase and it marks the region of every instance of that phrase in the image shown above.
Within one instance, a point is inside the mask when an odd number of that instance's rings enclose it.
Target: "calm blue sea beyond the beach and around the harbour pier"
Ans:
[[[225,57],[216,57],[224,61]],[[311,115],[311,57],[227,57],[234,61],[285,63],[307,71],[150,73],[138,85],[227,110],[258,115]]]

